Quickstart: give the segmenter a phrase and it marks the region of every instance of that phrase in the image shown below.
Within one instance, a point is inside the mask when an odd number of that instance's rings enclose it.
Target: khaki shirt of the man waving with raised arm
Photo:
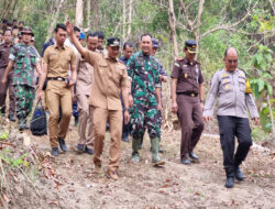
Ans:
[[[94,82],[89,105],[107,110],[122,110],[121,88],[129,84],[125,65],[108,55],[86,50],[85,61],[94,66]]]

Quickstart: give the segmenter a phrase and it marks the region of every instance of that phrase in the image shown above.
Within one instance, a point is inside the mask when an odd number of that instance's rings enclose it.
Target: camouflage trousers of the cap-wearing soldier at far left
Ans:
[[[15,111],[18,119],[26,119],[31,113],[35,89],[26,85],[15,85]]]

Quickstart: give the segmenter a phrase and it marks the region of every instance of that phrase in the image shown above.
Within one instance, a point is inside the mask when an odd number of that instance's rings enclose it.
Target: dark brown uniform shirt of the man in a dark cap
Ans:
[[[170,77],[177,79],[176,92],[198,94],[199,84],[204,82],[200,63],[187,58],[176,61]]]

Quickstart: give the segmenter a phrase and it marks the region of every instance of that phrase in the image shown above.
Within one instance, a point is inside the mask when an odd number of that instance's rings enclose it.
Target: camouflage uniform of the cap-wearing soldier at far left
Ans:
[[[14,62],[15,111],[21,121],[32,111],[35,97],[34,68],[38,57],[33,46],[21,43],[11,50],[9,59]]]

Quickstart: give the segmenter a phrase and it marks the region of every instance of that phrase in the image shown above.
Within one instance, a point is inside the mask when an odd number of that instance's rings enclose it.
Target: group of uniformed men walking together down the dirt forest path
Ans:
[[[4,31],[4,36],[6,33],[8,36],[11,35],[9,31]],[[129,141],[129,134],[132,135],[132,162],[140,162],[139,150],[146,129],[151,141],[153,166],[165,164],[160,157],[161,91],[162,81],[167,81],[167,74],[161,62],[154,57],[158,47],[157,40],[152,38],[150,34],[141,35],[140,52],[135,54],[132,54],[132,43],[124,43],[124,55],[119,59],[120,38],[109,37],[107,47],[103,48],[102,32],[89,33],[85,47],[77,28],[70,22],[66,25],[57,24],[53,38],[44,45],[42,70],[40,58],[30,45],[32,36],[31,28],[26,26],[22,30],[21,44],[12,45],[7,37],[0,45],[0,75],[3,74],[1,80],[4,88],[11,69],[14,72],[11,79],[15,89],[15,111],[20,130],[28,129],[26,117],[31,112],[35,96],[33,74],[36,69],[40,75],[37,97],[42,98],[44,88],[45,105],[50,111],[52,155],[58,156],[58,146],[63,152],[67,151],[65,139],[73,101],[77,100],[79,140],[76,148],[79,153],[94,154],[95,173],[101,172],[100,156],[107,123],[110,129],[107,176],[118,179],[120,143],[121,140]],[[6,48],[10,48],[10,52]],[[189,165],[198,161],[194,150],[204,131],[204,120],[208,122],[212,118],[218,97],[217,114],[227,174],[226,187],[231,188],[234,178],[243,179],[240,164],[252,144],[246,107],[256,123],[258,113],[249,79],[245,73],[238,68],[238,53],[234,48],[226,51],[224,68],[215,74],[205,102],[204,76],[200,63],[195,61],[196,48],[196,42],[186,41],[185,57],[177,58],[170,74],[172,111],[177,114],[182,128],[180,163]],[[14,106],[10,105],[11,112],[12,107]],[[235,154],[234,136],[239,141]]]

